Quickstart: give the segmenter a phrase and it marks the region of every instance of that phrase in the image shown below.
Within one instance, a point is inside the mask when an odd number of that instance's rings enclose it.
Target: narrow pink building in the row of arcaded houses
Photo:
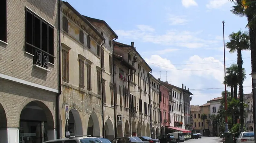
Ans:
[[[170,125],[169,121],[169,89],[164,85],[160,85],[159,102],[160,102],[160,124],[161,135],[165,135],[165,126]]]

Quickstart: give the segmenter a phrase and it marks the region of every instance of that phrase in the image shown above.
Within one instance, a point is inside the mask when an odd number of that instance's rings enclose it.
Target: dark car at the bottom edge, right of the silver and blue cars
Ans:
[[[148,141],[142,141],[139,137],[117,137],[114,138],[111,143],[149,143]]]

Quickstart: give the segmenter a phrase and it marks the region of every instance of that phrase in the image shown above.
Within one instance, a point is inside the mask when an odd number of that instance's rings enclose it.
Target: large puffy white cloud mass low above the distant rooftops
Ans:
[[[167,81],[178,87],[181,87],[182,84],[186,85],[190,89],[198,88],[218,88],[223,87],[222,81],[224,77],[224,67],[223,63],[213,57],[201,58],[198,55],[194,55],[187,60],[187,64],[194,65],[183,65],[176,66],[167,58],[162,58],[159,55],[151,55],[150,58],[145,58],[145,61],[153,69],[152,75],[155,78],[160,78],[161,71],[161,80]],[[155,63],[155,64],[152,64]],[[201,64],[200,64],[201,63]],[[205,64],[208,63],[208,64]],[[218,68],[219,67],[219,68]],[[210,70],[205,70],[210,69]],[[201,71],[200,71],[201,70]],[[167,71],[167,78],[166,78]],[[205,79],[203,82],[200,81]],[[213,83],[217,83],[216,87],[213,87]],[[213,97],[221,96],[221,91],[211,93]],[[199,90],[190,90],[194,94],[194,100],[192,99],[191,104],[193,105],[202,105],[210,99],[210,94],[204,94]],[[210,91],[211,92],[211,91]],[[218,95],[219,94],[219,95]],[[200,100],[197,100],[200,98]]]

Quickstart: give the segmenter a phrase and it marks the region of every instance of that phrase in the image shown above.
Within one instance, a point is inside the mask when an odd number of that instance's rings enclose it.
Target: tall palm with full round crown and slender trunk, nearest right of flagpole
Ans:
[[[238,83],[239,83],[239,96],[240,96],[240,120],[241,120],[241,131],[244,128],[244,91],[243,91],[243,61],[242,61],[242,50],[250,49],[250,37],[248,32],[232,32],[229,35],[230,42],[226,43],[226,47],[229,48],[229,52],[233,53],[237,51],[237,65],[238,65]]]

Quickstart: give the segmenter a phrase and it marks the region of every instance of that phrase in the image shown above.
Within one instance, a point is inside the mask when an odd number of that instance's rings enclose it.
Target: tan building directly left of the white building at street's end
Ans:
[[[211,135],[210,128],[212,128],[211,120],[210,120],[210,116],[211,116],[210,103],[205,103],[204,105],[201,105],[200,108],[201,108],[201,116],[205,115],[204,121],[201,119],[202,133],[204,136],[210,136]]]

